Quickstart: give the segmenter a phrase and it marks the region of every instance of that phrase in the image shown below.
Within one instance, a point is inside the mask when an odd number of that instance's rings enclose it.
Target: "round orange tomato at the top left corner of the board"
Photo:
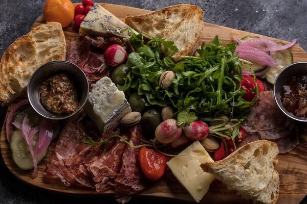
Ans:
[[[70,0],[47,0],[43,15],[47,21],[59,22],[65,28],[74,20],[75,8]]]

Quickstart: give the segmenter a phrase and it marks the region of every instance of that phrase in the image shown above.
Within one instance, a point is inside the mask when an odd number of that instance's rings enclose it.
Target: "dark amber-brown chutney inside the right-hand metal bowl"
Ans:
[[[281,90],[283,107],[296,117],[307,117],[307,75],[293,77]]]

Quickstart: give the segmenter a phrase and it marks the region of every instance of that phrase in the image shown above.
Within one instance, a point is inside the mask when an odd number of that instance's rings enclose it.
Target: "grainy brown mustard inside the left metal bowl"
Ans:
[[[79,106],[74,83],[63,73],[55,74],[43,82],[39,94],[42,105],[56,115],[75,112]]]

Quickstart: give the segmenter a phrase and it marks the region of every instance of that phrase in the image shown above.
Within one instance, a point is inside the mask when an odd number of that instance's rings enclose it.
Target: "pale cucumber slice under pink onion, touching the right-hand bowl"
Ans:
[[[278,42],[278,44],[284,45],[282,42]],[[265,74],[265,77],[267,78],[268,82],[274,84],[275,79],[281,70],[286,68],[288,65],[293,64],[293,55],[291,50],[288,48],[273,52],[272,57],[277,62],[278,66],[271,67]]]

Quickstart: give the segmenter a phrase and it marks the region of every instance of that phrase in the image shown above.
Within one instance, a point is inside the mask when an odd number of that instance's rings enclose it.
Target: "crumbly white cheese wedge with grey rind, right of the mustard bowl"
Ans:
[[[131,112],[124,92],[118,90],[108,77],[103,77],[92,85],[84,110],[101,134],[117,127],[120,119]]]

